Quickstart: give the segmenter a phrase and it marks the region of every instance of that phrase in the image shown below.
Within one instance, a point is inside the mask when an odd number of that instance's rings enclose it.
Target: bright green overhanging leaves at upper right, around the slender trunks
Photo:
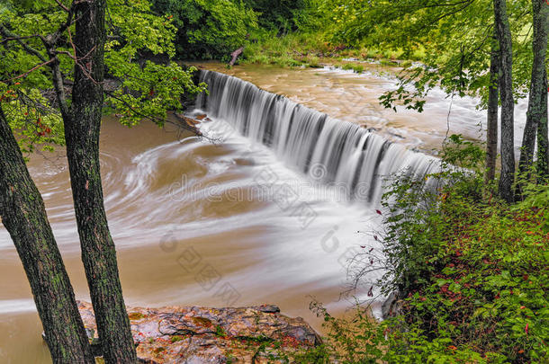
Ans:
[[[526,0],[508,2],[514,36],[515,93],[525,97],[531,67]],[[423,110],[433,87],[460,96],[488,97],[493,10],[489,0],[441,4],[418,0],[327,0],[333,9],[333,40],[351,46],[401,49],[402,58],[423,49],[423,67],[406,67],[396,90],[383,95],[384,106],[404,104]],[[410,65],[411,66],[411,65]],[[482,104],[483,106],[483,104]]]

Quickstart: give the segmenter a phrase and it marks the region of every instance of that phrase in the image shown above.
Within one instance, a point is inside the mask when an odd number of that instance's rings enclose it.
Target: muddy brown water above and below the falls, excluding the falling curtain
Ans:
[[[356,75],[329,68],[206,67],[378,129],[410,148],[429,152],[446,135],[450,101],[444,93],[431,95],[422,115],[379,106],[378,96],[394,85],[392,69],[369,67],[365,75]],[[474,111],[475,103],[454,101],[452,131],[482,138],[483,113]],[[223,132],[215,123],[206,129]],[[320,321],[309,310],[313,298],[338,315],[352,306],[352,297],[341,296],[349,284],[347,257],[360,245],[377,246],[372,235],[379,218],[373,207],[335,198],[337,193],[294,172],[265,146],[238,135],[211,143],[180,135],[171,126],[159,129],[143,122],[128,129],[105,118],[101,160],[105,207],[128,305],[272,303],[317,329]],[[32,155],[29,168],[76,297],[89,299],[66,158],[62,153]],[[314,211],[311,221],[295,215],[289,202],[266,198],[257,183],[266,171],[275,174],[277,183],[291,186],[296,203]],[[48,363],[29,284],[3,226],[0,251],[0,362]]]

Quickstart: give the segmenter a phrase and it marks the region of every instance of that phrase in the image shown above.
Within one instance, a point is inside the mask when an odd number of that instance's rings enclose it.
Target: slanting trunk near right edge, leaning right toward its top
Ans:
[[[545,0],[532,0],[533,13],[533,41],[534,62],[532,64],[532,79],[528,101],[527,123],[522,138],[518,173],[521,182],[517,186],[518,198],[522,196],[523,184],[528,180],[530,167],[534,162],[534,148],[536,146],[536,130],[540,120],[547,112],[547,94],[545,88],[545,56],[547,54],[547,33],[549,32],[549,5]]]

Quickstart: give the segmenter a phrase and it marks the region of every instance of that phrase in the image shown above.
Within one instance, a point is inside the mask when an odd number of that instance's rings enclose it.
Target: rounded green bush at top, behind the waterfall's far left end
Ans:
[[[238,1],[155,0],[159,13],[173,17],[177,53],[186,59],[227,59],[248,43],[257,15]]]

